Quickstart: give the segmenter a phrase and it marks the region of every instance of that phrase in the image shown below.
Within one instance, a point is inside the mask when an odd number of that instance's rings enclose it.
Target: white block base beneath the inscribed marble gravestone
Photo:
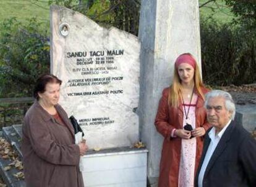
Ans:
[[[82,157],[85,186],[147,186],[147,153],[130,147],[88,151]]]

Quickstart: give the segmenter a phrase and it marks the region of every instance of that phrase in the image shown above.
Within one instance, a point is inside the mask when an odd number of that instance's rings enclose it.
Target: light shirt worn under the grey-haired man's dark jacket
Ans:
[[[205,159],[203,159],[203,164],[200,170],[200,173],[198,175],[198,187],[203,187],[203,176],[205,175],[205,170],[207,169],[207,165],[211,159],[211,156],[213,155],[213,152],[215,151],[216,146],[218,145],[223,133],[228,128],[228,125],[231,123],[231,120],[228,122],[228,124],[225,125],[223,129],[216,135],[216,129],[213,127],[210,132],[208,133],[211,142],[208,146],[207,153],[205,154]]]

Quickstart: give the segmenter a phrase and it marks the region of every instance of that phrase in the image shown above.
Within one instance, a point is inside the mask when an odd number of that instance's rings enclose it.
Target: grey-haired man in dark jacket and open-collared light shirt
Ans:
[[[256,186],[256,141],[233,121],[231,95],[213,90],[206,95],[205,108],[213,127],[205,137],[195,186]]]

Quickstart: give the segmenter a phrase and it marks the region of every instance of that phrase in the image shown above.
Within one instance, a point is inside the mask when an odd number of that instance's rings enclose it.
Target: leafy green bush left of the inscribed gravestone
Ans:
[[[0,23],[0,97],[31,96],[36,78],[49,72],[49,39],[35,18]]]

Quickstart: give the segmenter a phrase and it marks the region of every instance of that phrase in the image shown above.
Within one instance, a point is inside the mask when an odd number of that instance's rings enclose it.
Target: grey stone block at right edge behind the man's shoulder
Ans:
[[[236,105],[235,121],[249,132],[256,129],[256,105]]]

